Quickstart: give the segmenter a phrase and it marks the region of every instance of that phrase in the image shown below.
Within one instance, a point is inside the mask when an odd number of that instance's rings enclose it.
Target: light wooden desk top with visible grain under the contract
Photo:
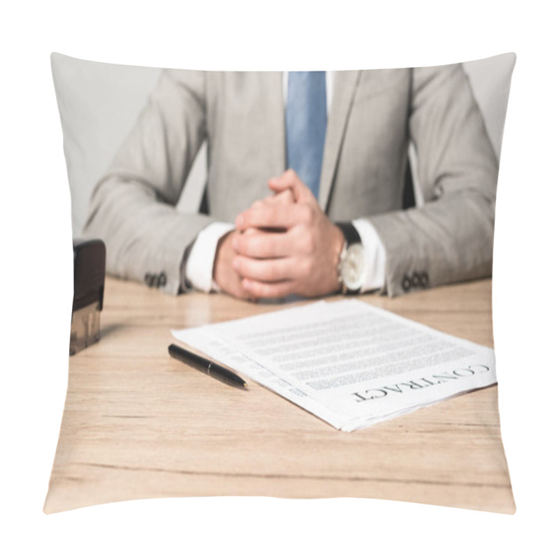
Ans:
[[[249,381],[167,354],[170,328],[275,310],[108,278],[101,342],[70,358],[45,512],[192,495],[367,497],[513,513],[497,387],[341,433]],[[491,280],[363,300],[493,345]],[[506,371],[498,371],[504,375]]]

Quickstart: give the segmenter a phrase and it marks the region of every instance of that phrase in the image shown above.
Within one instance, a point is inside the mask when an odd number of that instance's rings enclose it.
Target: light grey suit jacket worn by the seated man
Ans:
[[[175,205],[205,138],[209,215],[184,215]],[[404,211],[410,141],[425,204]],[[281,72],[164,71],[94,189],[85,234],[106,242],[109,273],[163,272],[160,289],[177,293],[198,232],[268,196],[285,161]],[[497,174],[460,65],[337,72],[319,203],[333,221],[375,226],[390,296],[414,277],[434,286],[491,275]]]

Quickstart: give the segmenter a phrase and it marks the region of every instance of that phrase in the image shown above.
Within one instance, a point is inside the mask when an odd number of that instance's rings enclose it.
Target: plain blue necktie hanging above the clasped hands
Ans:
[[[285,108],[287,167],[318,198],[326,138],[326,72],[289,72]]]

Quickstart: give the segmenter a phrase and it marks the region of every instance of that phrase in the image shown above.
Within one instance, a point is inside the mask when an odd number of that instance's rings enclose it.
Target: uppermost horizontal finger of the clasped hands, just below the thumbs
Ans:
[[[313,212],[310,205],[260,204],[240,213],[235,219],[238,231],[249,227],[289,229],[298,224],[310,224]]]

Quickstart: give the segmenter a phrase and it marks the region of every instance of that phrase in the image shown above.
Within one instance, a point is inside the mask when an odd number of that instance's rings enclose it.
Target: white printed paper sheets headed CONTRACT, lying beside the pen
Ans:
[[[173,335],[343,431],[496,382],[493,349],[358,300]]]

